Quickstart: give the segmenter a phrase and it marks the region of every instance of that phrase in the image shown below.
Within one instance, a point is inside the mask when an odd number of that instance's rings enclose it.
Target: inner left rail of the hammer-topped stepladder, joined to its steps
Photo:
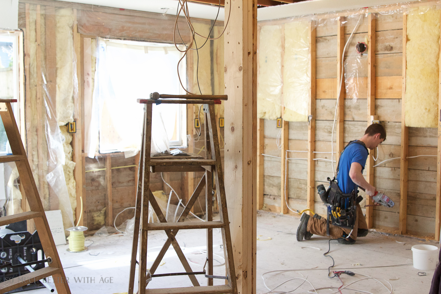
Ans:
[[[139,245],[138,293],[146,293],[147,275],[147,223],[150,192],[150,148],[152,136],[152,104],[144,105],[144,154],[142,157],[141,241]]]

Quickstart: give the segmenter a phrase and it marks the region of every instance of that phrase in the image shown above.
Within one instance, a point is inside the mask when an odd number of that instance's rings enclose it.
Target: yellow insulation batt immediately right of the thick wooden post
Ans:
[[[277,119],[282,99],[282,26],[262,26],[258,54],[257,115]]]

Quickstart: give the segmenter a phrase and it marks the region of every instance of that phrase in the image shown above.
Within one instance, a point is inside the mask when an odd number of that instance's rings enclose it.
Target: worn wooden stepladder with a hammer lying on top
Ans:
[[[136,196],[135,210],[135,230],[133,234],[132,255],[130,264],[130,278],[128,294],[133,294],[135,283],[135,267],[136,255],[138,251],[138,238],[140,234],[139,248],[139,278],[138,278],[138,294],[237,294],[236,275],[233,261],[233,250],[230,235],[230,227],[228,221],[227,201],[225,198],[224,174],[221,164],[221,152],[219,149],[219,139],[217,137],[216,118],[214,114],[214,104],[221,104],[221,100],[227,100],[227,95],[160,95],[158,93],[150,94],[151,99],[138,99],[138,103],[144,105],[144,124],[141,144],[141,154],[138,169],[138,189]],[[161,99],[159,99],[161,98]],[[176,99],[183,100],[176,100]],[[171,99],[171,100],[169,100]],[[202,156],[161,156],[150,158],[151,134],[152,134],[152,104],[203,104],[205,117],[205,148],[206,159]],[[142,163],[142,164],[141,164]],[[161,208],[157,204],[155,197],[150,190],[150,172],[193,172],[203,171],[205,175],[202,177],[198,186],[191,195],[190,200],[185,206],[183,212],[176,222],[168,223],[165,219]],[[220,221],[213,221],[213,197],[212,197],[212,175],[216,180],[216,192],[219,202]],[[142,176],[141,176],[142,175]],[[202,189],[206,186],[206,221],[188,221],[185,219],[190,213],[195,201],[198,199]],[[148,223],[149,203],[156,213],[160,223]],[[224,277],[213,276],[213,228],[220,228],[222,231],[222,241],[224,245],[225,267],[227,275]],[[202,272],[193,272],[184,256],[181,248],[176,241],[176,234],[183,229],[206,229],[207,230],[207,257]],[[150,269],[147,269],[147,232],[153,230],[164,230],[168,240],[165,242],[156,260]],[[161,263],[162,258],[172,245],[176,254],[181,261],[185,272],[169,273],[155,275],[157,267]],[[188,275],[194,287],[180,288],[162,288],[162,289],[146,289],[147,284],[152,278],[168,275]],[[205,275],[207,278],[207,286],[200,286],[195,275]],[[226,279],[228,284],[221,286],[213,286],[214,279]]]

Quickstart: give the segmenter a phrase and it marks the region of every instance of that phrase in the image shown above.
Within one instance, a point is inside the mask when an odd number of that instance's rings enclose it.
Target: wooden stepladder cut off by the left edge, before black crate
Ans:
[[[6,293],[52,275],[58,294],[70,294],[71,290],[67,284],[60,257],[58,256],[48,220],[46,219],[45,210],[41,204],[40,195],[38,194],[34,176],[32,175],[19,129],[15,122],[14,113],[12,112],[11,102],[17,102],[17,100],[0,99],[0,116],[12,150],[12,155],[0,156],[0,162],[15,161],[20,175],[20,182],[31,211],[0,217],[0,226],[33,219],[40,237],[41,246],[43,246],[45,256],[49,261],[48,266],[45,268],[0,283],[0,293]],[[19,261],[17,261],[17,264],[19,264]]]

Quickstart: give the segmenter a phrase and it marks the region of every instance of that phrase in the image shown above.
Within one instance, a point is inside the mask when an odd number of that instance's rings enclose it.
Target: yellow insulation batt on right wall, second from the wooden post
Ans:
[[[283,119],[306,122],[311,92],[309,22],[290,22],[284,27]]]

